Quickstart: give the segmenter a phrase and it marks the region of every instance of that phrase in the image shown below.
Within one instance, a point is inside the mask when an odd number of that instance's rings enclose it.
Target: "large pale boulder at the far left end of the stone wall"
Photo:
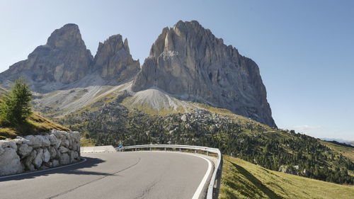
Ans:
[[[0,140],[0,176],[17,174],[23,171],[20,157],[16,153],[16,143]]]

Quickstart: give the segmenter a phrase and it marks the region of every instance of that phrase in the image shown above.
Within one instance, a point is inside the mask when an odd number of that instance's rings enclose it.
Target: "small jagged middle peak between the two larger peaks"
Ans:
[[[127,39],[122,35],[113,35],[100,42],[94,59],[94,70],[100,72],[103,79],[125,81],[139,72],[139,60],[132,59]]]

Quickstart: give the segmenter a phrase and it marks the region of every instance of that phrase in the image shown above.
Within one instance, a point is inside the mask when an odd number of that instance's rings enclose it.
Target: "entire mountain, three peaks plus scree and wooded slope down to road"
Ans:
[[[217,147],[267,169],[354,182],[351,149],[279,130],[256,63],[196,21],[164,28],[141,69],[121,35],[93,58],[77,25],[64,25],[1,73],[0,86],[17,76],[35,91],[35,110],[83,132],[84,143]]]

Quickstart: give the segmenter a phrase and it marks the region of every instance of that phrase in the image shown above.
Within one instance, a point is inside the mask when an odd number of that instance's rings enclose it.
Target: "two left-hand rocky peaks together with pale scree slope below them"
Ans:
[[[35,91],[35,110],[55,118],[120,90],[122,83],[131,81],[139,70],[139,60],[132,59],[122,35],[100,42],[93,58],[78,25],[69,23],[55,30],[47,44],[36,47],[28,59],[2,72],[0,85],[8,88],[15,79],[24,77]]]

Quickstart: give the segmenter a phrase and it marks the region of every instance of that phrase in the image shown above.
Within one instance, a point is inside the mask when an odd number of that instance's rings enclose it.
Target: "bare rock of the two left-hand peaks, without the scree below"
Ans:
[[[23,77],[38,93],[119,85],[131,80],[140,70],[139,61],[132,59],[127,39],[113,35],[100,42],[93,58],[87,50],[78,25],[69,23],[55,30],[45,45],[40,45],[28,59],[13,64],[0,74],[0,84],[9,87]]]

